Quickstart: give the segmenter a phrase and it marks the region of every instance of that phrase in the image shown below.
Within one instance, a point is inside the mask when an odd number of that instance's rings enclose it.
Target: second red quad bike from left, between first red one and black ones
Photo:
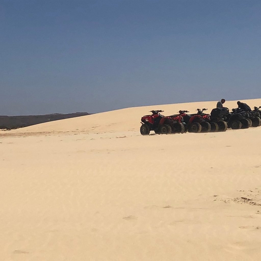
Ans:
[[[200,109],[198,109],[198,113],[196,114],[186,114],[186,112],[189,111],[180,110],[178,115],[183,117],[183,120],[186,123],[186,130],[188,130],[188,132],[210,132],[211,125],[207,122],[209,121],[209,115],[201,115],[202,111]]]

